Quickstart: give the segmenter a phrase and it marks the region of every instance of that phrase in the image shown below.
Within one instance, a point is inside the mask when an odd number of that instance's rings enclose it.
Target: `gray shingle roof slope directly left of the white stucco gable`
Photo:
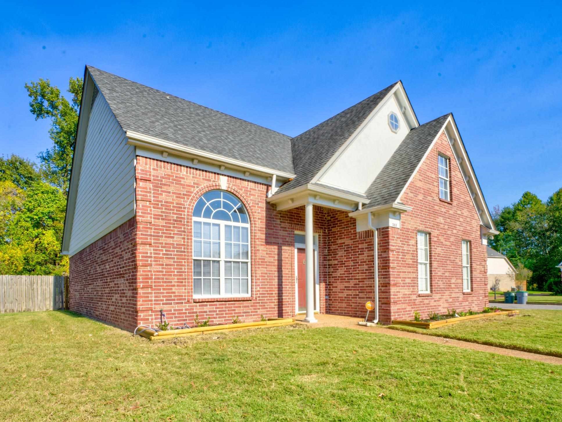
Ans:
[[[297,176],[281,186],[276,194],[309,183],[397,83],[294,137],[291,145]]]

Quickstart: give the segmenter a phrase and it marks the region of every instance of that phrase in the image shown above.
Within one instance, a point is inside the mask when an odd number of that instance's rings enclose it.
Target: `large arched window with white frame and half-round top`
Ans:
[[[193,208],[193,296],[250,296],[250,221],[229,192],[206,192]]]

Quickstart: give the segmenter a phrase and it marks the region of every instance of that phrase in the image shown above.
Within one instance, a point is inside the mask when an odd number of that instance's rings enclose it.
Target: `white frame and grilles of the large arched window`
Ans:
[[[220,192],[226,192],[226,193],[228,193],[228,194],[234,196],[234,198],[236,198],[236,196],[235,196],[234,194],[232,194],[231,192],[223,191],[223,190],[219,190],[219,191],[220,191]],[[205,192],[205,193],[207,193],[207,192]],[[204,195],[204,194],[203,194],[203,195]],[[203,195],[201,195],[201,196],[203,196]],[[200,198],[201,198],[201,197],[200,197]],[[242,207],[244,208],[244,210],[246,210],[246,207],[244,207],[244,204],[242,204],[242,201],[240,201],[238,198],[236,198],[236,199],[238,200],[239,204],[242,205]],[[199,200],[199,199],[197,199],[197,200]],[[196,202],[196,203],[197,203],[197,202]],[[232,204],[232,205],[234,206],[234,208],[237,208],[237,207],[238,207],[238,204]],[[202,258],[201,256],[194,256],[193,241],[194,241],[195,239],[194,239],[194,236],[193,236],[193,235],[194,235],[194,224],[192,224],[192,230],[191,230],[191,233],[192,233],[192,236],[191,236],[191,237],[192,237],[192,239],[191,239],[191,241],[192,241],[192,249],[193,249],[193,250],[192,250],[192,272],[191,272],[191,279],[192,279],[193,299],[219,299],[219,298],[221,298],[221,297],[251,297],[251,296],[252,296],[252,277],[251,277],[251,274],[252,274],[252,265],[251,265],[251,259],[252,259],[252,256],[251,256],[251,253],[252,253],[252,252],[251,252],[251,249],[252,249],[252,241],[251,241],[251,239],[252,239],[252,237],[251,237],[251,230],[250,230],[250,218],[249,218],[249,215],[248,215],[248,213],[247,213],[247,210],[246,210],[246,215],[248,216],[248,223],[237,223],[237,222],[233,222],[233,221],[231,222],[231,221],[224,221],[224,220],[218,220],[218,219],[212,219],[212,218],[193,217],[193,214],[192,214],[192,221],[193,221],[193,222],[199,221],[199,222],[202,222],[202,223],[219,224],[219,226],[220,226],[220,231],[219,231],[219,233],[220,233],[220,258]],[[225,255],[225,247],[224,247],[224,245],[225,245],[225,236],[224,236],[225,226],[238,226],[238,227],[247,227],[247,228],[248,228],[248,259],[230,259],[230,258],[226,258],[226,255]],[[212,230],[212,229],[211,229],[211,230]],[[211,236],[211,237],[212,237],[212,236]],[[212,249],[211,249],[211,254],[212,254]],[[194,278],[196,278],[196,277],[193,276],[193,266],[194,266],[194,263],[193,263],[193,262],[194,262],[194,261],[219,261],[219,262],[220,262],[220,264],[219,264],[219,265],[220,265],[220,270],[219,270],[219,271],[220,271],[220,277],[219,277],[219,280],[220,280],[220,285],[219,285],[219,286],[220,286],[220,287],[219,287],[219,294],[218,294],[218,295],[213,295],[212,293],[211,293],[211,295],[203,295],[203,294],[201,294],[201,295],[196,295],[196,294],[195,294],[194,282],[193,282],[193,281],[194,281]],[[229,294],[229,295],[227,295],[227,294],[224,292],[224,290],[225,290],[225,288],[224,288],[224,279],[225,279],[225,276],[224,276],[224,263],[225,263],[226,261],[228,261],[228,262],[244,262],[244,263],[247,263],[247,264],[248,264],[248,293],[238,293],[238,294]],[[199,277],[197,277],[197,278],[199,278]],[[201,277],[201,278],[207,278],[207,277]],[[214,278],[214,277],[212,277],[212,278]],[[212,280],[212,278],[211,278],[211,280]],[[241,277],[241,278],[242,278],[242,277]],[[211,283],[212,283],[212,281],[211,281]],[[211,286],[212,286],[212,284],[211,284]],[[211,288],[212,288],[212,287],[211,287]]]

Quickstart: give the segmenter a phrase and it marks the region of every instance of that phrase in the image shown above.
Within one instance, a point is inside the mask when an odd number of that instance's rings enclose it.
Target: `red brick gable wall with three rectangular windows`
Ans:
[[[450,157],[451,201],[439,200],[437,155]],[[429,312],[481,311],[488,302],[486,246],[480,238],[480,221],[445,134],[441,134],[401,201],[413,207],[402,214],[401,228],[383,228],[379,246],[379,278],[384,289],[383,322],[422,317]],[[430,233],[430,290],[418,294],[416,232]],[[469,240],[472,292],[463,293],[461,241]],[[389,296],[388,296],[389,295]],[[383,295],[382,295],[383,296]],[[389,301],[389,304],[388,304]]]

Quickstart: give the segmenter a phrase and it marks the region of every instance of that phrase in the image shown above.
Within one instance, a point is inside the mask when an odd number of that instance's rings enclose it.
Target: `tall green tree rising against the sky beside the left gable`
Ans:
[[[60,89],[52,86],[48,79],[25,84],[25,89],[28,90],[31,98],[30,111],[34,114],[35,120],[50,118],[52,122],[49,137],[53,141],[53,146],[38,155],[42,176],[51,185],[58,187],[65,196],[70,181],[82,84],[81,78],[70,78],[67,91],[72,94],[71,102],[62,96]]]

